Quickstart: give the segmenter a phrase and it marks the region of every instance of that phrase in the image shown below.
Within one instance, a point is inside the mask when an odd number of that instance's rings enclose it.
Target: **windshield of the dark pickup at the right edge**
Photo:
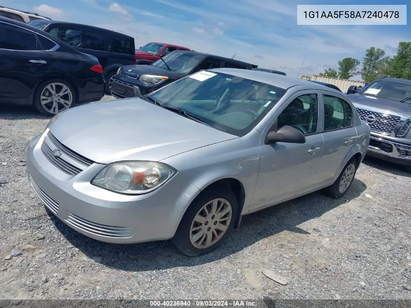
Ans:
[[[377,80],[360,91],[360,93],[393,101],[411,102],[411,85],[393,81]]]

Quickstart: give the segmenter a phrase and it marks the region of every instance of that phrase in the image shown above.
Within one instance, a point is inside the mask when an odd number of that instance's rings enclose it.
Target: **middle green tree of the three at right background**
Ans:
[[[385,75],[390,57],[385,56],[385,51],[380,48],[367,49],[362,62],[361,77],[365,82],[372,82]]]

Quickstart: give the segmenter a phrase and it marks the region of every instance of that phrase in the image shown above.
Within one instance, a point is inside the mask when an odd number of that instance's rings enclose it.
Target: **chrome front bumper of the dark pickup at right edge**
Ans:
[[[411,165],[411,142],[407,145],[406,141],[397,142],[390,139],[393,138],[371,132],[367,155],[392,163]]]

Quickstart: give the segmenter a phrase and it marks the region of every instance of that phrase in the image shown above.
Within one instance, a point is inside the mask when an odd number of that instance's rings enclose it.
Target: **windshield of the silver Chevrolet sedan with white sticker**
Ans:
[[[205,125],[244,136],[280,100],[286,90],[221,72],[201,71],[150,94],[147,100],[179,109]],[[181,112],[183,110],[184,112]]]

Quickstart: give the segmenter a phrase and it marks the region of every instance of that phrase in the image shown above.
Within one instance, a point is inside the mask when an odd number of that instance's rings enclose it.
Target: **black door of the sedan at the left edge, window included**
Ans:
[[[0,100],[26,104],[49,71],[50,60],[33,31],[0,21]]]

